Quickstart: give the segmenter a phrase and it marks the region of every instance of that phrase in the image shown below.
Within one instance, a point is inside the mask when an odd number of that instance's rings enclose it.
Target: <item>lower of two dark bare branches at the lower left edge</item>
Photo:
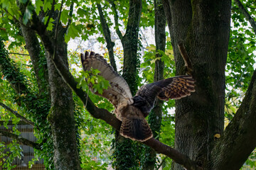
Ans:
[[[27,145],[29,147],[33,147],[35,149],[41,150],[40,145],[38,143],[27,140],[27,139],[21,137],[20,135],[15,135],[13,133],[6,132],[4,130],[0,130],[0,135],[5,136],[5,137],[10,137],[14,140],[17,140],[17,143],[20,144],[20,145]]]

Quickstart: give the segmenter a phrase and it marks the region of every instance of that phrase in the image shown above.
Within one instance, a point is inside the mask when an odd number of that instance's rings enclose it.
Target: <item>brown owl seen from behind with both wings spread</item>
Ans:
[[[193,78],[184,75],[145,84],[132,96],[127,81],[115,72],[101,55],[86,51],[80,57],[84,71],[98,69],[99,75],[109,81],[110,87],[104,89],[102,94],[93,91],[90,84],[89,88],[92,93],[107,98],[114,105],[114,113],[122,121],[119,133],[131,140],[144,142],[153,137],[145,118],[154,108],[156,98],[168,101],[170,98],[190,96],[191,92],[195,91]]]

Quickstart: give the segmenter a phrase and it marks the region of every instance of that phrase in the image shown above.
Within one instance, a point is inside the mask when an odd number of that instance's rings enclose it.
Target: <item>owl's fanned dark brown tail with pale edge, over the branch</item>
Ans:
[[[140,142],[144,142],[153,137],[149,124],[144,118],[123,118],[119,132],[120,135],[124,137]]]

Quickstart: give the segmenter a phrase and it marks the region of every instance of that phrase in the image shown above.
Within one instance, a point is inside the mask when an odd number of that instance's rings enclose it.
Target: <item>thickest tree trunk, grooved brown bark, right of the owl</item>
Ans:
[[[165,1],[166,3],[166,1]],[[175,147],[206,167],[214,135],[223,134],[225,62],[231,1],[169,1],[169,31],[177,75],[185,74],[177,43],[183,40],[191,57],[196,93],[176,101]],[[171,16],[171,17],[170,17]],[[174,164],[174,169],[183,169]]]

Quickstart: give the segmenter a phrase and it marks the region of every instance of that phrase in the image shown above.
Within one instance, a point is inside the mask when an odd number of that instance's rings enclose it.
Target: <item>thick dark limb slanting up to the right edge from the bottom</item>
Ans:
[[[240,169],[256,147],[256,70],[241,106],[215,143],[213,169]],[[213,161],[214,162],[214,161]],[[212,165],[209,165],[212,166]]]

